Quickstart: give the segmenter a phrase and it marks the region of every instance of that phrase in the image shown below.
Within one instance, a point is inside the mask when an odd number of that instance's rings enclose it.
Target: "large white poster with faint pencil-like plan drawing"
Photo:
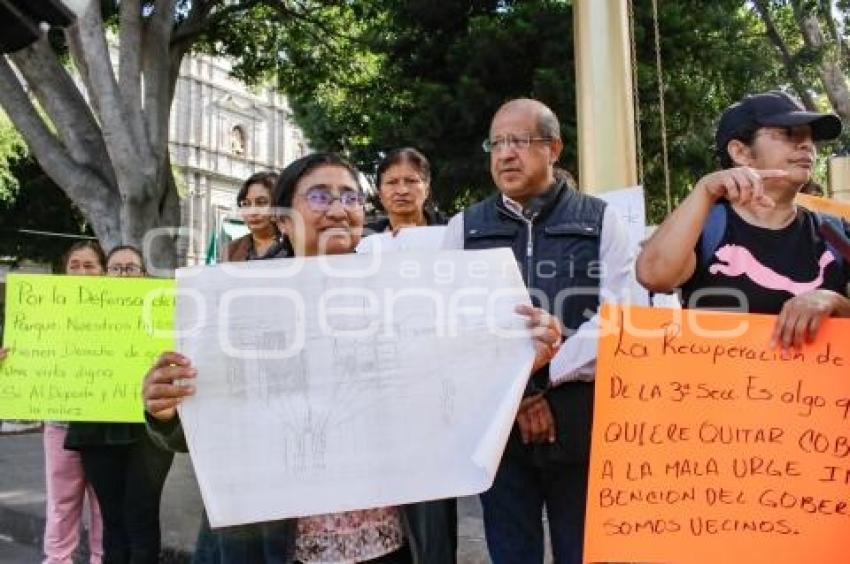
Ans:
[[[180,408],[214,527],[490,487],[534,357],[508,249],[177,274]]]

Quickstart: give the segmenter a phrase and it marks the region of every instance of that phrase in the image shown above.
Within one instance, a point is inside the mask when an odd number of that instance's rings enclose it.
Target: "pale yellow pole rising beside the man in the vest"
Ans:
[[[589,193],[637,184],[626,0],[573,2],[579,186]]]

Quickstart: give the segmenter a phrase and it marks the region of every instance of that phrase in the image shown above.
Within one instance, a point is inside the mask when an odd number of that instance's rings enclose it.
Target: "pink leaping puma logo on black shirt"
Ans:
[[[823,273],[826,267],[835,261],[832,253],[825,250],[818,261],[820,272],[818,272],[817,277],[811,282],[795,282],[761,264],[750,253],[749,249],[740,245],[723,245],[717,249],[714,256],[720,262],[709,267],[708,271],[711,274],[725,274],[733,277],[743,274],[762,288],[785,290],[795,296],[820,288],[820,285],[823,284]],[[724,262],[726,264],[723,264]]]

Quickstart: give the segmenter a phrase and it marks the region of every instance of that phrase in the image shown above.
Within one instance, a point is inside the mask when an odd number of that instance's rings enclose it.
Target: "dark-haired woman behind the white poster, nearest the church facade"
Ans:
[[[224,260],[239,262],[287,256],[283,235],[272,217],[272,190],[277,173],[258,172],[242,184],[236,195],[239,214],[250,230],[227,246]]]

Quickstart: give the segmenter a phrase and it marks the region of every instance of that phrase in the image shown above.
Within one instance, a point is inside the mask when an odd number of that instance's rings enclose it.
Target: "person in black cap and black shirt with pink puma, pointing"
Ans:
[[[850,317],[848,259],[834,217],[798,207],[816,143],[841,134],[832,114],[806,111],[784,92],[728,107],[715,135],[721,170],[702,177],[646,242],[638,280],[681,288],[685,307],[778,315],[772,345],[800,347],[823,319]],[[839,242],[840,247],[840,242]]]

